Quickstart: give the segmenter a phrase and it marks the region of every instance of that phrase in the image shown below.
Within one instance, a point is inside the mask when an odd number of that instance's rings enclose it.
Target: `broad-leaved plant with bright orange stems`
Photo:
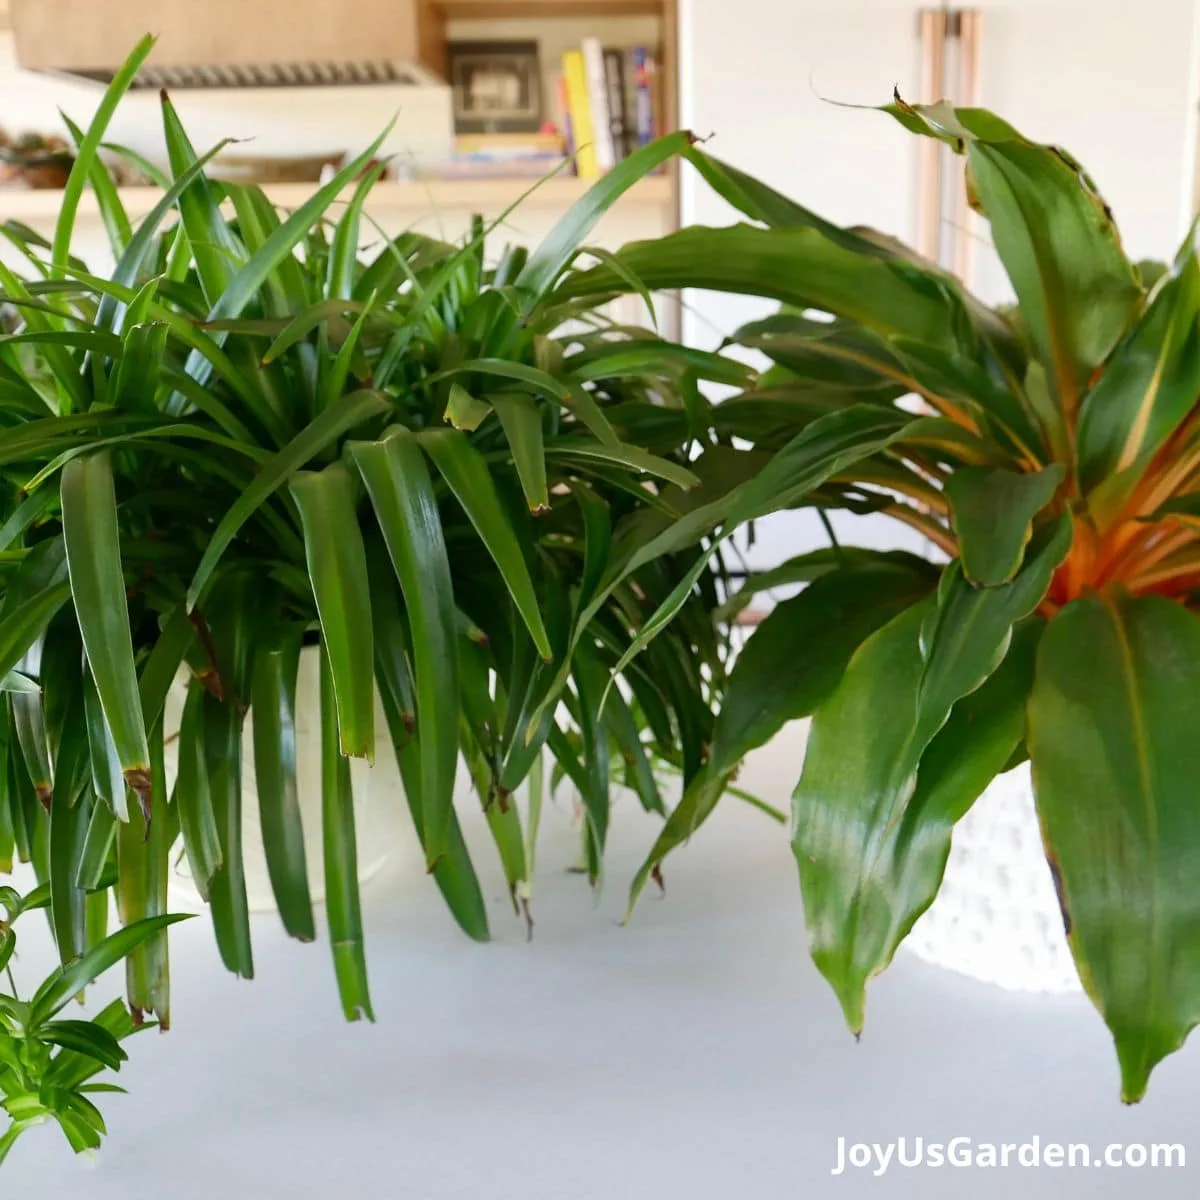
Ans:
[[[695,149],[752,223],[626,247],[563,294],[636,276],[779,301],[736,335],[776,364],[769,386],[730,404],[760,446],[841,439],[808,503],[894,517],[938,560],[835,545],[754,582],[809,586],[755,632],[718,718],[746,745],[812,714],[793,848],[811,953],[850,1026],[932,901],[954,823],[1027,757],[1132,1103],[1200,1020],[1196,230],[1169,266],[1134,264],[1062,150],[979,109],[887,110],[965,160],[1014,307]],[[715,803],[698,782],[652,865]]]

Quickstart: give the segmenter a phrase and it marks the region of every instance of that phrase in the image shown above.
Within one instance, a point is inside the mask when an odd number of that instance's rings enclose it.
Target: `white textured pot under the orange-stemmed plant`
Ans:
[[[1013,991],[1081,990],[1027,762],[997,776],[958,823],[937,898],[904,944],[926,962]]]

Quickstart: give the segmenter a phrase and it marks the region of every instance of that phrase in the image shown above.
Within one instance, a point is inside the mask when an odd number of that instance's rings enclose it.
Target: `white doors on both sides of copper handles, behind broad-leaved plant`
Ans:
[[[1195,0],[990,0],[983,11],[982,96],[1030,137],[1069,149],[1112,205],[1127,250],[1170,257],[1192,204]],[[882,113],[899,85],[917,95],[917,0],[680,0],[682,122],[710,151],[842,224],[916,234],[916,139]],[[685,222],[734,220],[685,172]],[[986,227],[980,228],[986,238]],[[984,247],[976,289],[1007,299]],[[685,336],[712,346],[767,311],[692,295]],[[839,518],[863,544],[911,544],[881,518]],[[804,516],[768,522],[751,553],[772,563],[823,544]]]

